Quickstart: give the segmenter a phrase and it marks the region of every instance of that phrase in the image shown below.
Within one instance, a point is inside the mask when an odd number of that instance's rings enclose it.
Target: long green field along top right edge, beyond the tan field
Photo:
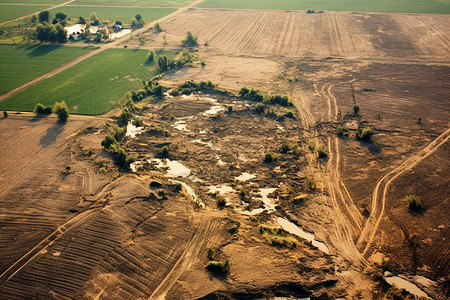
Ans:
[[[450,0],[206,0],[205,8],[450,13]]]

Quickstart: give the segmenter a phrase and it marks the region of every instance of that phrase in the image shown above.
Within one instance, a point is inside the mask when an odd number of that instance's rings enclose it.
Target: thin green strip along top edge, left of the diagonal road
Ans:
[[[193,0],[76,0],[71,5],[182,7]]]

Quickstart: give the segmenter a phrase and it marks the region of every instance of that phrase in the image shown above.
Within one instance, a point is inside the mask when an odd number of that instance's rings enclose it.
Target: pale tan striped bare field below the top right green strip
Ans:
[[[447,15],[190,9],[161,26],[142,35],[151,47],[164,34],[167,47],[179,46],[189,30],[208,51],[234,55],[446,61],[450,53]]]

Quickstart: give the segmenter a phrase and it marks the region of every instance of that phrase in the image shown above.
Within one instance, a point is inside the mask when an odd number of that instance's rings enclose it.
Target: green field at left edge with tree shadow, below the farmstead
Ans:
[[[81,47],[0,46],[0,94],[21,86],[90,51]]]

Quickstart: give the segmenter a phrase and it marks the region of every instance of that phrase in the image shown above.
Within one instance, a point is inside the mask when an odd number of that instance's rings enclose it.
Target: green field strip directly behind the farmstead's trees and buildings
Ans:
[[[100,20],[120,20],[125,24],[130,24],[131,19],[137,14],[140,14],[147,21],[154,21],[175,10],[175,8],[64,6],[52,10],[51,14],[54,15],[58,12],[63,12],[72,19],[77,19],[80,16],[87,19],[92,12],[95,12]]]

